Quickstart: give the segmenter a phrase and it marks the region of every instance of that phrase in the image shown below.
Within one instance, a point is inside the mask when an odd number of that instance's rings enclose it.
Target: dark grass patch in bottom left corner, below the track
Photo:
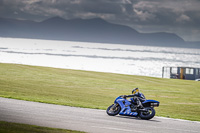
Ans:
[[[83,133],[83,132],[0,121],[0,133]]]

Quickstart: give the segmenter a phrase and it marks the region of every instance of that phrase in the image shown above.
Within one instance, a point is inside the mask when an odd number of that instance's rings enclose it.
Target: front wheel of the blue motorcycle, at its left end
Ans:
[[[115,116],[119,114],[120,110],[121,107],[119,106],[119,104],[112,104],[107,108],[106,113],[110,116]]]

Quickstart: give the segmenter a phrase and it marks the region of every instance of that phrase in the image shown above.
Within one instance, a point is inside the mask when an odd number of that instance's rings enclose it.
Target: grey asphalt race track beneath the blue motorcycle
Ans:
[[[0,121],[92,133],[199,133],[200,122],[108,116],[105,110],[0,98]]]

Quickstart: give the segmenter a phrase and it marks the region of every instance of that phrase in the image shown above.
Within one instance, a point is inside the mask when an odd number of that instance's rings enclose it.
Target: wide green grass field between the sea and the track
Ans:
[[[157,116],[200,121],[200,82],[0,64],[0,96],[85,108],[106,109],[139,87],[160,101]]]

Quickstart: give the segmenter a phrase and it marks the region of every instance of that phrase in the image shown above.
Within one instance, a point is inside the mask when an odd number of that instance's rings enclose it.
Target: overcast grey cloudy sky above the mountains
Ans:
[[[139,32],[176,33],[200,41],[200,0],[0,0],[0,17],[42,21],[102,18]]]

